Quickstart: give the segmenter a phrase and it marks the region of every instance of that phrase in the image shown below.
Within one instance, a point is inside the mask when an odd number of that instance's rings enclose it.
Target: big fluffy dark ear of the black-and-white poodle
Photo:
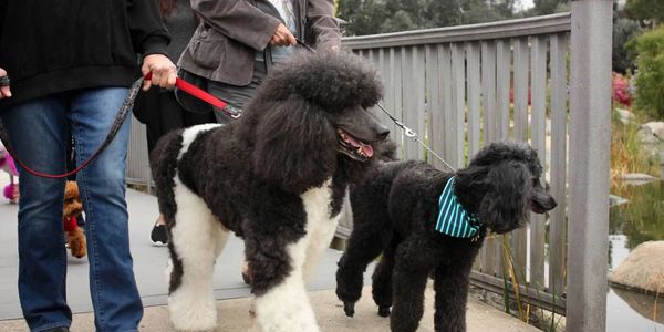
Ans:
[[[290,193],[302,193],[332,176],[336,134],[318,106],[295,97],[264,112],[253,132],[257,176]]]

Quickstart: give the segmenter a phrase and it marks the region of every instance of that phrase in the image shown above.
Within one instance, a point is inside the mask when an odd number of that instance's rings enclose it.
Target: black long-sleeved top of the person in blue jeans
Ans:
[[[0,68],[12,97],[0,110],[53,93],[129,86],[137,54],[166,54],[157,0],[0,0]]]

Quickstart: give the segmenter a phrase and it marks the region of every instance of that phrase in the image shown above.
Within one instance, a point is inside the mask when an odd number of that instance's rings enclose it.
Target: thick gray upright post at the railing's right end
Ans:
[[[572,1],[567,331],[606,330],[611,0]]]

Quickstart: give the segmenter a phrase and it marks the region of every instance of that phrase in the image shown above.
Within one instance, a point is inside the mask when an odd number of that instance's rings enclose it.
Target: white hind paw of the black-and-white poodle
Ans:
[[[178,331],[212,331],[217,328],[217,307],[214,300],[183,301],[177,295],[170,295],[168,311],[170,322]]]

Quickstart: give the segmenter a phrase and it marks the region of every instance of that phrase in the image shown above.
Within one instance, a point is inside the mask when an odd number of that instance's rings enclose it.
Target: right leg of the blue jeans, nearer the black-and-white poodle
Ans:
[[[126,87],[102,87],[72,96],[71,122],[76,162],[87,159],[106,138]],[[134,279],[125,201],[125,166],[131,122],[77,175],[85,209],[90,292],[97,331],[137,331],[143,304]]]

